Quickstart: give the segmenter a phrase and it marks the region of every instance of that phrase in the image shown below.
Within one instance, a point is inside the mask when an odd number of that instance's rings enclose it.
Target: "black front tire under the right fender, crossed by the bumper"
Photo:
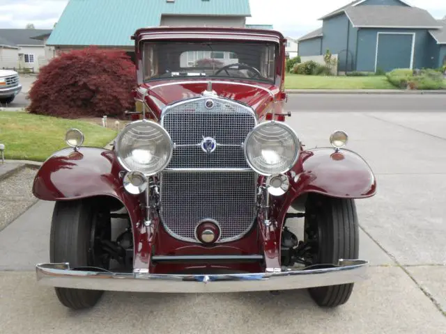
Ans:
[[[338,264],[359,255],[359,228],[355,201],[312,194],[305,212],[305,237],[317,239],[314,264]],[[316,240],[314,240],[316,241]],[[334,308],[350,299],[353,283],[309,289],[321,307]]]

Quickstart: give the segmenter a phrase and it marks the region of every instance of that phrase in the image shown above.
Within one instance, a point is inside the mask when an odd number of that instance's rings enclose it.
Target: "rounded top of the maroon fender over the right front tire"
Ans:
[[[376,177],[367,162],[355,152],[316,148],[303,154],[302,173],[292,181],[296,195],[323,193],[338,198],[375,195]]]

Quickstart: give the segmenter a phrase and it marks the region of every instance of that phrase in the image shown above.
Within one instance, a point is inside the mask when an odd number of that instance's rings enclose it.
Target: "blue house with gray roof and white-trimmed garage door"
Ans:
[[[300,56],[339,58],[340,72],[440,67],[446,63],[446,21],[403,0],[357,0],[321,17],[298,39]]]

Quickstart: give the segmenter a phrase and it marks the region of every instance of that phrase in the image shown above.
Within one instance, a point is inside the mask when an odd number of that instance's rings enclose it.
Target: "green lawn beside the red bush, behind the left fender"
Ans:
[[[0,111],[0,143],[6,146],[5,158],[45,161],[53,152],[68,147],[65,134],[72,127],[82,131],[85,146],[104,147],[117,134],[90,122]]]

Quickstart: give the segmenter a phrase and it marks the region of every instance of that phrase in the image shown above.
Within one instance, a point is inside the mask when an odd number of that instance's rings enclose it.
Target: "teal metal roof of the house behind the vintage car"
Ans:
[[[249,17],[249,0],[70,0],[47,45],[133,46],[137,29],[162,15]]]

